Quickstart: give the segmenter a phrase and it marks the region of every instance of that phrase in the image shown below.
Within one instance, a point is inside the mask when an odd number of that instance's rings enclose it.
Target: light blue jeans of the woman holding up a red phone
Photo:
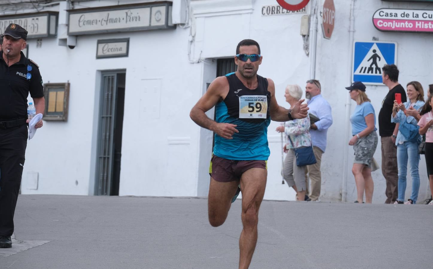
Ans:
[[[397,145],[397,165],[398,165],[398,201],[404,201],[404,192],[406,191],[406,174],[407,162],[409,161],[410,176],[412,176],[412,195],[410,199],[416,204],[418,192],[420,191],[420,173],[418,172],[418,163],[420,163],[420,154],[418,154],[418,142],[404,142]]]

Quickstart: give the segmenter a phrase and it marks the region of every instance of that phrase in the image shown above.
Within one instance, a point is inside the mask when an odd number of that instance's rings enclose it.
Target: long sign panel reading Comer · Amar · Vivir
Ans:
[[[172,29],[171,5],[161,1],[68,10],[68,35]]]

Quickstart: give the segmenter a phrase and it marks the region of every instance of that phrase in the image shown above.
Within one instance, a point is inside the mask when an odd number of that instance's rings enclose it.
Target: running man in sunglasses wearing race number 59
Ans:
[[[285,122],[305,118],[308,110],[302,104],[304,99],[291,110],[278,106],[274,82],[257,75],[261,63],[257,42],[239,42],[235,56],[238,70],[213,80],[190,113],[197,125],[216,133],[208,195],[210,225],[218,227],[224,223],[232,199],[239,194],[238,186],[242,191],[239,269],[249,267],[257,242],[259,207],[265,194],[266,161],[270,154],[268,125],[271,119]],[[216,121],[205,114],[213,106]]]

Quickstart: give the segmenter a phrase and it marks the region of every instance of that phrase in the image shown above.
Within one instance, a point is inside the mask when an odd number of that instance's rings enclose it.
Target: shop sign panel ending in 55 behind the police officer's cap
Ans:
[[[9,24],[15,23],[29,32],[27,38],[53,37],[57,34],[57,18],[55,11],[0,16],[0,35]]]

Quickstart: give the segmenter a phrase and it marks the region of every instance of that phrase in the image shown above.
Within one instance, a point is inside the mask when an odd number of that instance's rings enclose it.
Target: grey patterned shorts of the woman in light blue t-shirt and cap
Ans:
[[[375,154],[378,145],[378,135],[372,131],[365,137],[359,138],[353,145],[355,151],[355,160],[353,163],[365,164],[368,168],[372,167],[373,154]]]

